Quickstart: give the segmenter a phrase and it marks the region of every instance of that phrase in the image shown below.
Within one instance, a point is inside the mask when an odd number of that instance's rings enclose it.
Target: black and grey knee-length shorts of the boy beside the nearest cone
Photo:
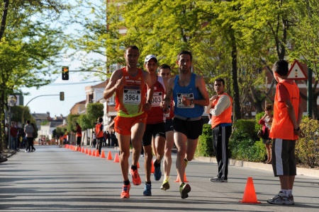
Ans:
[[[296,141],[272,139],[272,169],[274,176],[297,175],[295,147]]]

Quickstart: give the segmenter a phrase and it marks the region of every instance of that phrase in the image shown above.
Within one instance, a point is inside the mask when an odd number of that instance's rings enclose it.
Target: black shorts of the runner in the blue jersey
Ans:
[[[174,131],[185,134],[187,139],[198,139],[203,132],[203,119],[190,121],[174,117],[173,126]]]

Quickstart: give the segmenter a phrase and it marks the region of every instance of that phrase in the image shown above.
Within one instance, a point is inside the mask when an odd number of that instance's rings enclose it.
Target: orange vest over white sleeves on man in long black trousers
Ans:
[[[218,99],[222,95],[228,95],[228,93],[222,93],[221,95],[218,96],[216,100],[213,100],[212,102],[212,107],[215,107],[217,105]],[[230,97],[230,106],[226,108],[219,116],[212,116],[211,117],[211,128],[213,129],[216,127],[218,124],[231,124],[232,123],[232,110],[233,110],[233,98]]]

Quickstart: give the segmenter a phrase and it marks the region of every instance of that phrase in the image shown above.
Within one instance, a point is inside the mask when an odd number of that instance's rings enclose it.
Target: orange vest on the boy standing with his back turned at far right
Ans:
[[[290,81],[289,81],[290,82]],[[298,119],[298,108],[299,108],[299,88],[296,83],[289,83],[286,81],[277,84],[284,85],[289,93],[291,104],[293,105],[293,110]],[[277,90],[277,89],[276,89]],[[278,92],[276,92],[274,98],[274,119],[272,121],[272,128],[270,129],[269,138],[272,139],[284,139],[284,140],[296,140],[298,136],[293,134],[293,123],[288,114],[288,108],[286,107],[286,102],[279,102]]]

